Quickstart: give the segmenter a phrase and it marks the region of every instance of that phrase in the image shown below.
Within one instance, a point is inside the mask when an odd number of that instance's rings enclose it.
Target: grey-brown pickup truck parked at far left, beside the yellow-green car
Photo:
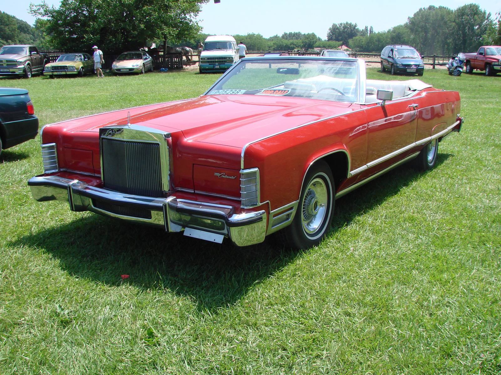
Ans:
[[[30,78],[33,73],[42,73],[49,60],[49,55],[40,53],[35,45],[4,45],[0,49],[0,75]]]

